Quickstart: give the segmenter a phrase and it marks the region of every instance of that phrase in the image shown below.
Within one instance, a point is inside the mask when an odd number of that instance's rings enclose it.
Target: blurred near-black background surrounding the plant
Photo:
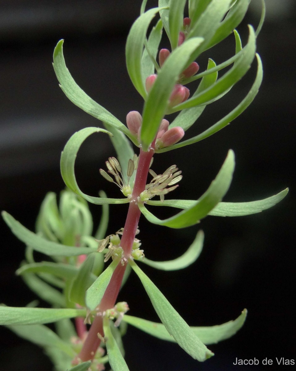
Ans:
[[[259,0],[252,1],[239,32],[246,41],[247,23],[259,22]],[[125,68],[125,40],[139,14],[141,1],[1,1],[0,2],[0,208],[33,230],[40,203],[47,191],[59,193],[63,182],[59,157],[67,139],[78,129],[101,125],[74,106],[59,89],[52,68],[57,41],[65,39],[66,64],[76,82],[122,122],[142,101]],[[155,6],[156,1],[148,1]],[[126,360],[133,370],[238,370],[242,359],[296,359],[295,353],[295,15],[293,0],[266,0],[267,19],[258,39],[264,81],[253,104],[231,125],[214,136],[184,149],[155,155],[153,168],[163,172],[172,164],[183,172],[173,198],[198,198],[216,176],[227,150],[236,154],[236,171],[225,201],[265,198],[290,187],[273,209],[239,218],[207,217],[200,225],[170,230],[141,219],[140,235],[150,259],[180,256],[197,230],[205,232],[204,250],[184,271],[162,272],[143,266],[172,305],[190,325],[215,325],[249,313],[233,338],[212,345],[215,357],[198,363],[175,344],[154,339],[129,328]],[[207,58],[221,63],[233,52],[230,36]],[[208,106],[190,135],[227,114],[247,93],[256,69],[221,101]],[[190,88],[190,86],[189,86]],[[170,120],[170,117],[168,117]],[[99,175],[104,161],[114,154],[99,136],[83,145],[77,166],[78,183],[88,194],[103,188],[120,197],[116,187]],[[159,161],[159,158],[161,160]],[[97,222],[100,207],[91,205]],[[161,210],[162,211],[162,210]],[[161,212],[159,211],[159,212]],[[111,206],[114,224],[124,225],[126,206]],[[165,216],[167,214],[159,214]],[[24,246],[0,221],[0,301],[24,306],[35,296],[14,275]],[[157,315],[135,275],[119,300],[128,301],[130,314],[157,321]],[[42,351],[1,328],[0,365],[3,370],[51,370]],[[291,367],[291,366],[290,366]],[[242,366],[263,370],[262,365]],[[278,369],[279,366],[269,366]],[[287,369],[290,369],[286,366]]]

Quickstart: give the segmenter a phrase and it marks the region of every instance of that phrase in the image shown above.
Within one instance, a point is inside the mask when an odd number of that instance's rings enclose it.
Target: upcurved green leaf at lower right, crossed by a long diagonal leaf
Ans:
[[[208,327],[193,327],[191,330],[205,345],[216,344],[219,341],[225,340],[236,334],[243,326],[246,319],[247,309],[241,312],[241,315],[234,321],[228,321],[222,325]],[[161,323],[147,321],[143,318],[124,315],[124,319],[129,325],[137,327],[139,330],[147,332],[147,334],[156,338],[175,342],[175,339],[168,333],[165,326]]]

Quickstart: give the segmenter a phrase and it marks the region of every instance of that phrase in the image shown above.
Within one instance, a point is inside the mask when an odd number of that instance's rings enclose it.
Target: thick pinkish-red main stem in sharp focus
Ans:
[[[145,190],[151,158],[154,155],[154,146],[155,140],[152,143],[151,148],[147,152],[142,151],[142,149],[140,150],[134,189],[131,202],[129,203],[124,231],[121,238],[121,247],[124,250],[124,257],[126,260],[131,255],[132,245],[134,243],[139,218],[141,216],[141,211],[138,208],[138,197],[140,196],[141,192]],[[98,337],[98,334],[104,336],[102,313],[105,312],[107,309],[114,307],[119,290],[121,288],[125,268],[126,263],[124,263],[123,265],[119,263],[119,265],[114,270],[114,273],[99,305],[100,315],[95,316],[91,328],[89,329],[88,336],[86,337],[85,342],[83,343],[83,347],[78,355],[78,357],[82,361],[88,361],[89,359],[93,359],[93,357],[95,356],[95,352],[101,343],[101,339]]]

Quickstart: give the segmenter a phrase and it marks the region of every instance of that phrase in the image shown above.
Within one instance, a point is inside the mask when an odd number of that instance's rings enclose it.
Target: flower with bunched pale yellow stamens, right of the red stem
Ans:
[[[164,201],[164,195],[176,189],[178,184],[174,184],[182,179],[181,170],[178,171],[176,165],[170,166],[163,174],[157,175],[151,169],[149,169],[149,173],[153,178],[150,183],[146,184],[145,190],[138,197],[138,201],[145,202],[154,196],[160,196],[160,200]]]

